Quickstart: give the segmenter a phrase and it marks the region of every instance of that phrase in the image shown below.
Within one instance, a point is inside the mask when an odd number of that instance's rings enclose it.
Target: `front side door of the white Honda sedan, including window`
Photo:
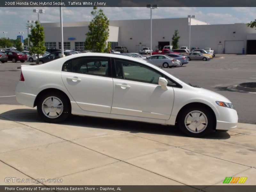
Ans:
[[[171,86],[158,85],[163,75],[138,62],[114,60],[116,74],[111,114],[169,119],[174,91]]]

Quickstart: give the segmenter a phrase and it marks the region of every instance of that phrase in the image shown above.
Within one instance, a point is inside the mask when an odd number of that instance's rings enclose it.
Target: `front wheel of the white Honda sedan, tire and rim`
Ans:
[[[213,130],[213,118],[209,109],[193,106],[181,111],[178,125],[182,132],[191,137],[202,137]]]

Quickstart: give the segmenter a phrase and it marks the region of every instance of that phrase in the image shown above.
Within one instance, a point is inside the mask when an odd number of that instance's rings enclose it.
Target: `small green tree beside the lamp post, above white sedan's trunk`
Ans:
[[[31,34],[28,35],[33,46],[29,47],[29,54],[36,54],[39,58],[40,54],[44,54],[46,47],[44,46],[44,27],[38,21],[35,22],[36,26],[31,28]]]

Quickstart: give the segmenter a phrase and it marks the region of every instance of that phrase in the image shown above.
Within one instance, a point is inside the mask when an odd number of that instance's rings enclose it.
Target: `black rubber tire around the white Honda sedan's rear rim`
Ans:
[[[50,118],[47,115],[44,114],[43,110],[42,110],[42,105],[43,102],[46,98],[49,97],[55,97],[58,98],[62,104],[63,104],[63,110],[62,112],[59,114],[58,117],[55,118]],[[68,98],[63,95],[60,92],[49,92],[49,93],[45,93],[43,95],[40,96],[40,98],[38,98],[38,102],[37,102],[37,113],[40,116],[40,118],[46,122],[49,123],[59,123],[64,121],[66,118],[68,118],[68,116],[71,114],[71,107],[70,107],[70,101],[68,100]],[[57,114],[57,113],[56,113]]]

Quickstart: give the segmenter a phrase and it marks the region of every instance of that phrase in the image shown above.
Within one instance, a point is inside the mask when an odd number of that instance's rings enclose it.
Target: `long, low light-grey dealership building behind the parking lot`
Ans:
[[[84,50],[85,33],[90,22],[63,23],[64,49]],[[45,33],[45,46],[61,47],[60,23],[42,23]],[[180,46],[189,44],[189,18],[153,19],[152,48],[163,48],[172,44],[172,35],[179,32]],[[109,37],[112,49],[126,46],[129,52],[139,52],[150,47],[150,20],[109,21]],[[212,48],[215,53],[256,54],[256,30],[245,23],[218,24],[191,19],[190,47]]]

